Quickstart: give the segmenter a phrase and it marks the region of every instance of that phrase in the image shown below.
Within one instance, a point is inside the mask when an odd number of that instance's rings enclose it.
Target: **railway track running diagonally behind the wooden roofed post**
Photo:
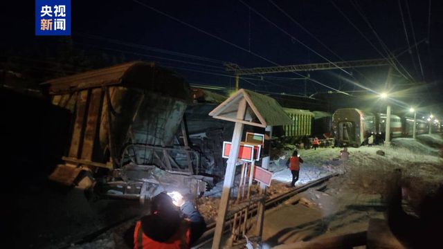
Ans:
[[[289,192],[285,192],[283,194],[278,194],[278,195],[272,196],[270,199],[266,200],[266,203],[265,203],[266,210],[269,210],[270,208],[275,207],[275,205],[282,203],[283,201],[291,198],[292,196],[294,196],[296,194],[299,194],[300,192],[304,192],[311,187],[315,187],[317,185],[325,183],[325,181],[328,181],[329,178],[332,178],[334,176],[338,176],[338,174],[331,174],[329,176],[319,178],[316,181],[312,181],[311,183],[307,183],[307,184],[302,185],[300,187],[296,187],[293,190],[290,190]],[[255,205],[253,208],[251,208],[250,213],[251,213],[251,218],[257,214],[257,205]],[[233,219],[234,219],[234,217],[228,217],[228,220],[225,221],[224,233],[230,231],[229,228],[233,223]],[[192,246],[193,249],[202,248],[204,245],[206,245],[207,243],[209,243],[210,241],[213,240],[215,225],[216,225],[216,223],[213,222],[207,226],[206,232],[204,232],[204,234],[201,236],[199,241],[197,241],[195,246]]]

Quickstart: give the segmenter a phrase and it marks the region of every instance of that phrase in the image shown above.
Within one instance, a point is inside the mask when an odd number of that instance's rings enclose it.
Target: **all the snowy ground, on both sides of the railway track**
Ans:
[[[365,230],[370,218],[383,216],[382,212],[368,207],[383,203],[383,194],[390,184],[391,173],[397,168],[403,169],[402,183],[410,189],[410,204],[416,206],[426,194],[443,182],[443,160],[438,156],[437,149],[443,145],[442,136],[422,135],[417,136],[417,141],[395,138],[390,147],[348,148],[350,156],[345,162],[338,160],[341,148],[319,148],[316,151],[300,149],[298,152],[305,163],[300,165],[297,185],[328,174],[341,175],[329,180],[323,192],[312,190],[304,194],[308,203],[312,202],[314,206],[287,205],[284,212],[266,213],[264,239],[275,245]],[[384,156],[377,154],[380,150]],[[286,151],[286,156],[271,161],[269,165],[269,170],[274,172],[268,189],[270,196],[290,190],[288,185],[291,172],[285,163],[291,153]],[[235,183],[239,183],[238,175]],[[222,185],[221,181],[197,200],[197,208],[208,224],[217,216]],[[236,191],[233,190],[233,196]],[[128,224],[102,234],[91,243],[72,248],[125,248],[121,236],[125,230],[123,227]],[[283,236],[285,232],[290,234]]]

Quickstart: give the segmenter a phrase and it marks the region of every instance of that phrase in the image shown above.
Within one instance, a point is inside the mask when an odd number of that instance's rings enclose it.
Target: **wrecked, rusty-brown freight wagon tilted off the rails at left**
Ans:
[[[199,194],[211,181],[195,175],[199,154],[183,124],[190,88],[171,71],[130,62],[44,84],[74,116],[53,181],[141,201],[160,191]]]

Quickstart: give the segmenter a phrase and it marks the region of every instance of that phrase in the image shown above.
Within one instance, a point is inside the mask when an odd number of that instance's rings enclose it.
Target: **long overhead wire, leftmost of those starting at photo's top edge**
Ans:
[[[224,43],[226,43],[226,44],[229,44],[230,46],[233,46],[233,47],[235,47],[235,48],[238,48],[239,50],[243,50],[244,52],[250,53],[251,55],[254,55],[255,57],[258,57],[258,58],[260,58],[260,59],[263,59],[264,61],[269,62],[269,63],[271,63],[271,64],[273,64],[273,65],[275,65],[275,66],[281,66],[280,64],[277,64],[277,63],[271,61],[270,59],[267,59],[266,57],[263,57],[262,55],[259,55],[259,54],[257,54],[257,53],[254,53],[254,52],[252,52],[252,51],[249,51],[248,49],[243,48],[242,46],[238,46],[237,44],[233,44],[232,42],[229,42],[228,40],[223,39],[223,38],[221,38],[221,37],[218,37],[217,35],[213,35],[213,34],[211,34],[211,33],[208,33],[207,31],[202,30],[201,28],[198,28],[198,27],[196,27],[196,26],[193,26],[192,24],[188,24],[188,23],[185,22],[185,21],[181,21],[180,19],[178,19],[178,18],[176,18],[176,17],[172,17],[171,15],[168,15],[167,13],[165,13],[165,12],[163,12],[163,11],[161,11],[161,10],[157,10],[156,8],[154,8],[154,7],[152,7],[152,6],[149,6],[149,5],[147,5],[146,3],[143,3],[143,2],[141,2],[141,1],[137,1],[137,0],[132,0],[132,1],[134,1],[134,3],[138,3],[138,4],[140,4],[141,6],[144,6],[144,7],[146,7],[146,8],[149,8],[150,10],[153,10],[154,12],[157,12],[157,13],[159,13],[159,14],[161,14],[161,15],[164,15],[165,17],[168,17],[168,18],[170,18],[170,19],[173,19],[174,21],[177,21],[177,22],[179,22],[180,24],[183,24],[183,25],[188,26],[188,27],[190,27],[190,28],[193,28],[193,29],[195,29],[195,30],[197,30],[197,31],[199,31],[199,32],[201,32],[201,33],[204,33],[205,35],[208,35],[208,36],[210,36],[210,37],[213,37],[213,38],[215,38],[215,39],[218,39],[219,41],[224,42]],[[302,74],[300,74],[300,73],[296,73],[296,72],[293,72],[293,73],[296,74],[296,75],[300,75],[300,76],[302,76],[302,77],[305,77],[304,75],[302,75]],[[345,94],[345,95],[350,95],[349,93],[345,93],[345,92],[339,91],[339,90],[337,90],[337,89],[334,89],[332,86],[327,86],[326,84],[323,84],[323,83],[319,82],[318,80],[314,80],[314,79],[312,79],[312,78],[309,78],[309,80],[312,81],[312,82],[315,82],[316,84],[320,84],[321,86],[324,86],[324,87],[326,87],[326,88],[328,88],[328,89],[332,89],[332,90],[334,90],[334,91],[337,91],[337,92],[339,92],[339,93],[343,93],[343,94]]]

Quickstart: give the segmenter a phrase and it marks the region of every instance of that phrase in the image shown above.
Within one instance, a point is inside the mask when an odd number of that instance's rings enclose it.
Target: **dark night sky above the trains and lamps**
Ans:
[[[392,53],[398,55],[395,63],[404,67],[401,73],[406,75],[394,72],[393,98],[404,102],[403,107],[415,104],[425,112],[443,113],[441,1],[71,0],[71,4],[73,46],[87,55],[154,61],[190,84],[229,90],[234,79],[224,70],[226,62],[249,68],[376,59]],[[8,34],[1,47],[9,51],[2,53],[3,62],[10,51],[41,49],[35,44],[57,48],[57,37],[34,35],[34,1],[8,3],[1,9],[11,10],[1,15],[3,33]],[[277,95],[340,90],[357,96],[384,91],[387,74],[388,66],[309,72],[311,79],[329,87],[300,79],[307,72],[251,75],[240,80],[240,87]]]

